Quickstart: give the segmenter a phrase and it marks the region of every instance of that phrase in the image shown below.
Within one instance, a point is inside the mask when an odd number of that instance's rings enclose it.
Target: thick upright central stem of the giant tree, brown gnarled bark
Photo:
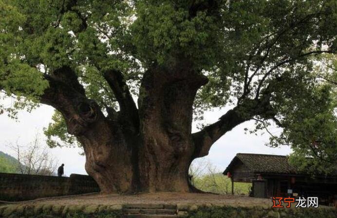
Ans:
[[[140,189],[189,191],[188,168],[194,153],[191,135],[196,91],[207,79],[186,66],[146,72],[140,89]]]

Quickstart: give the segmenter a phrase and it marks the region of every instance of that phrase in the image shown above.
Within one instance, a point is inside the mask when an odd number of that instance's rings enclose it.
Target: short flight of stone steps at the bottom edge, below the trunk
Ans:
[[[174,204],[126,204],[123,206],[125,218],[177,218]]]

